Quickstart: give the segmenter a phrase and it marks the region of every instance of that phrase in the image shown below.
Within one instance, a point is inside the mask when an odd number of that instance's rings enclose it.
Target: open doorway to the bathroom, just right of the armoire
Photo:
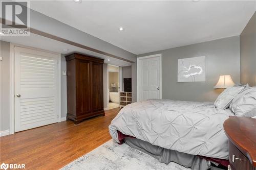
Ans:
[[[109,65],[108,74],[109,74],[109,108],[114,109],[119,107],[119,66]]]

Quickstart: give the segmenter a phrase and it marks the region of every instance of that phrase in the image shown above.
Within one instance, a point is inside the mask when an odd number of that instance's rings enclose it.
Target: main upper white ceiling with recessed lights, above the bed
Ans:
[[[32,1],[30,6],[134,54],[240,35],[256,9],[255,1]]]

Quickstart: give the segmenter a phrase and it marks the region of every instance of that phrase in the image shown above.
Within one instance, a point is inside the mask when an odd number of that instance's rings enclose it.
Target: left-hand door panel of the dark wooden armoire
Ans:
[[[76,60],[76,113],[77,116],[91,112],[90,61]]]

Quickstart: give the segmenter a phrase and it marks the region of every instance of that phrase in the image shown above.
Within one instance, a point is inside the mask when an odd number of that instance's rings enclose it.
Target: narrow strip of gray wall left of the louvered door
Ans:
[[[1,114],[0,114],[0,131],[9,129],[10,115],[10,43],[0,41],[0,56],[3,60],[0,61],[0,98],[1,98]]]

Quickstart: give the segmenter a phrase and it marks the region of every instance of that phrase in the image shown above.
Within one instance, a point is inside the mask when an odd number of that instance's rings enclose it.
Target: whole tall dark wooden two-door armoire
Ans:
[[[103,59],[82,54],[66,56],[67,61],[67,118],[75,124],[96,115],[103,109]]]

